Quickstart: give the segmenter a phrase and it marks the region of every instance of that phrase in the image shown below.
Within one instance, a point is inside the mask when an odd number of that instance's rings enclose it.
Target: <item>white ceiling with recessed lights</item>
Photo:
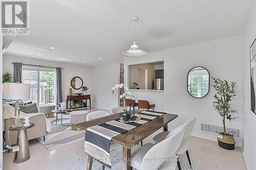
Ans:
[[[5,55],[89,66],[122,62],[122,51],[133,41],[132,16],[140,18],[136,26],[138,45],[154,52],[241,35],[252,3],[253,0],[33,0],[30,35],[16,36]],[[56,49],[51,50],[50,46]]]

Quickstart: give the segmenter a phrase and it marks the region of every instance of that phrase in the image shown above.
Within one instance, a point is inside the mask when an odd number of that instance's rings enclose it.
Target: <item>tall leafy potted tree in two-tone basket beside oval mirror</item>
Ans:
[[[227,120],[237,120],[238,117],[232,116],[232,113],[237,113],[236,109],[231,109],[231,100],[236,96],[235,86],[236,83],[231,82],[228,83],[226,80],[220,80],[220,78],[212,77],[213,84],[212,86],[217,91],[214,95],[215,101],[212,102],[212,106],[214,106],[214,109],[219,113],[219,115],[222,117],[222,123],[223,123],[223,131],[220,132],[218,135],[218,144],[220,147],[227,149],[227,150],[233,150],[234,144],[236,142],[234,141],[233,132],[226,131],[226,119]]]

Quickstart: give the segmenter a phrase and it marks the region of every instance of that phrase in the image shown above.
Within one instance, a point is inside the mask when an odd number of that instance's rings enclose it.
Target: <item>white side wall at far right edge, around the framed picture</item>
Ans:
[[[246,142],[243,143],[243,153],[248,170],[256,169],[256,114],[250,109],[250,54],[249,48],[256,38],[256,2],[254,2],[247,20],[244,34],[243,55],[243,130]]]

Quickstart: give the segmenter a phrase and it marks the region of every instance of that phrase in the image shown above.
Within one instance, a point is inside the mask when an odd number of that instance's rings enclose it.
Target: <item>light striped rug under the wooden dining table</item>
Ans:
[[[149,142],[149,140],[143,141],[143,144],[145,144],[147,142]],[[135,147],[132,148],[132,152],[134,152],[138,148],[140,148],[140,144],[135,145]],[[122,159],[122,153],[123,153],[122,147],[120,146],[120,147],[114,149],[111,152],[111,157],[112,158],[117,158],[117,159],[120,160],[120,159]],[[188,163],[188,160],[187,160],[186,153],[184,153],[182,155],[179,155],[179,160],[180,160],[180,163],[181,163],[182,170],[191,170],[190,166],[189,166],[189,163]],[[192,164],[193,170],[197,170],[198,166],[199,166],[199,163],[201,161],[201,158],[198,157],[198,156],[195,156],[195,155],[190,155],[190,160],[191,160],[191,164]],[[74,163],[70,167],[66,168],[66,170],[85,170],[86,168],[87,168],[87,160],[84,159],[83,161]],[[102,169],[102,164],[100,164],[97,161],[93,161],[92,170],[101,170],[101,169]],[[105,169],[110,169],[110,168],[105,167]],[[112,170],[123,169],[122,162],[120,161],[118,163],[113,164],[111,169]],[[177,167],[176,170],[179,170],[179,168]]]

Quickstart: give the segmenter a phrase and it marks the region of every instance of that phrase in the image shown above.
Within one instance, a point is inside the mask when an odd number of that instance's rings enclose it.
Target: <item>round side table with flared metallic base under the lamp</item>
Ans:
[[[27,135],[27,129],[35,126],[34,123],[30,123],[30,126],[20,128],[9,128],[9,131],[18,131],[16,145],[19,147],[19,151],[14,153],[13,163],[22,163],[30,158],[29,153],[29,141]]]

